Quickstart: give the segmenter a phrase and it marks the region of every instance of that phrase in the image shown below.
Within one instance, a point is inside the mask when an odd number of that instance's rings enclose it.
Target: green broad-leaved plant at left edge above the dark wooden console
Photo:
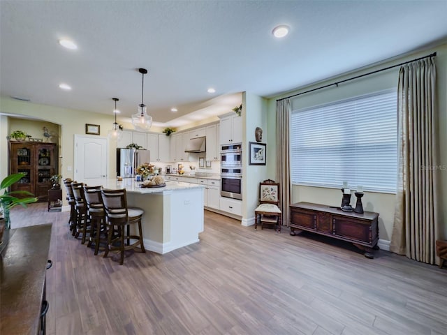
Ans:
[[[3,193],[0,194],[0,217],[3,217],[3,224],[6,229],[10,228],[9,211],[11,208],[17,206],[17,204],[27,207],[27,204],[37,201],[37,198],[28,191],[7,191],[8,187],[19,181],[23,176],[23,173],[10,174],[0,183],[0,192],[3,191]],[[31,197],[17,198],[15,195],[31,195]]]

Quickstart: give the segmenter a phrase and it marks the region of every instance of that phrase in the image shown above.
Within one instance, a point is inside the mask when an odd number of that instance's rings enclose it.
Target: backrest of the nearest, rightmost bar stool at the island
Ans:
[[[118,190],[101,190],[105,215],[112,224],[125,224],[129,221],[127,211],[126,188]]]

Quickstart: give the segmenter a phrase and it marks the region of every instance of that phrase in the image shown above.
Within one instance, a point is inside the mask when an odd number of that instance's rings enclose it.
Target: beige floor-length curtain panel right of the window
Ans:
[[[429,264],[439,264],[435,84],[432,57],[400,68],[397,201],[390,244],[390,251]]]

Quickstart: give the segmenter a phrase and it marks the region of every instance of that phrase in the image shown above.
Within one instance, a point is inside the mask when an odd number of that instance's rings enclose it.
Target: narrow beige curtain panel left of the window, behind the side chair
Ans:
[[[291,101],[277,101],[277,181],[281,203],[282,225],[289,224],[289,205],[291,204],[290,178],[290,119]]]

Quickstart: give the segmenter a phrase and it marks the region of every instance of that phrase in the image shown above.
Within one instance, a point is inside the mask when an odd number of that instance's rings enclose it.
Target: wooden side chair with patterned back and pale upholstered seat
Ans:
[[[279,183],[267,179],[259,183],[259,205],[254,210],[254,229],[258,228],[258,218],[263,224],[276,225],[281,232],[281,209],[279,209]]]

